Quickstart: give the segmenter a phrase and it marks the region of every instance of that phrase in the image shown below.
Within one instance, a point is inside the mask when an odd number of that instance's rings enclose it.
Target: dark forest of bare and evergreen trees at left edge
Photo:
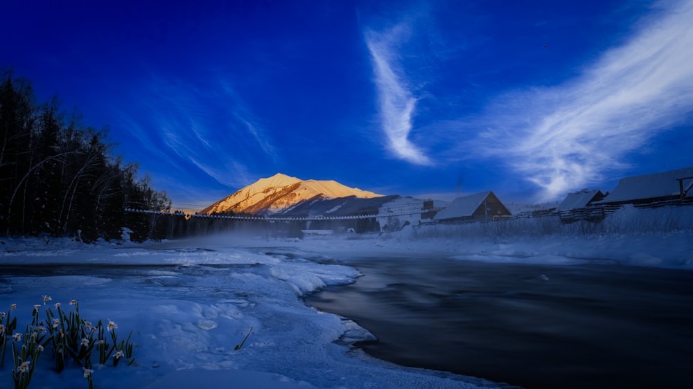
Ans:
[[[0,235],[119,239],[150,226],[125,208],[170,210],[165,191],[113,156],[107,129],[86,127],[57,98],[37,104],[30,82],[0,71]]]

